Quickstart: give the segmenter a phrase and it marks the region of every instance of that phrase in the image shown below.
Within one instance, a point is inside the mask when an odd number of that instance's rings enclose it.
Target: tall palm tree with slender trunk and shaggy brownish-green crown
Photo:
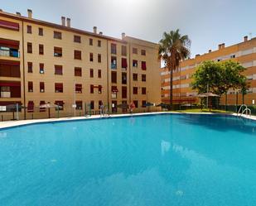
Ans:
[[[179,29],[164,32],[162,40],[159,41],[158,57],[163,60],[170,71],[170,107],[172,108],[172,77],[173,71],[178,69],[181,60],[186,60],[191,55],[191,40],[187,35],[181,36]]]

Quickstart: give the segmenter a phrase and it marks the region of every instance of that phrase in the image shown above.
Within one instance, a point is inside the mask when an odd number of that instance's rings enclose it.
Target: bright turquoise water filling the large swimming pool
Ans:
[[[162,114],[4,129],[0,205],[253,206],[256,123]]]

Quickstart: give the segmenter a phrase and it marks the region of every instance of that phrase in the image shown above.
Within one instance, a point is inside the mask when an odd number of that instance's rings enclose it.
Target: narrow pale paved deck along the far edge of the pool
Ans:
[[[107,117],[102,117],[100,115],[93,115],[89,117],[60,117],[60,118],[46,118],[46,119],[29,119],[29,120],[16,120],[16,121],[6,121],[0,122],[0,129],[8,128],[8,127],[17,127],[41,122],[64,122],[64,121],[74,121],[74,120],[86,120],[86,119],[99,119],[99,118],[109,118],[109,117],[133,117],[133,116],[145,116],[145,115],[153,115],[153,114],[165,114],[165,113],[175,113],[175,114],[212,114],[212,115],[227,115],[227,113],[177,113],[177,112],[158,112],[158,113],[133,113],[133,114],[111,114]],[[230,113],[228,115],[232,115],[237,117],[236,113]],[[256,121],[256,116],[242,115],[241,117],[252,119]]]

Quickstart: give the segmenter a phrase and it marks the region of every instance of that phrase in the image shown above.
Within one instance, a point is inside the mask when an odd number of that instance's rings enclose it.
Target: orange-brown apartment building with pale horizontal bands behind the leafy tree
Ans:
[[[196,91],[191,88],[192,75],[196,71],[196,67],[205,60],[234,60],[243,65],[250,88],[244,96],[244,103],[252,105],[256,100],[256,38],[249,40],[248,36],[244,36],[244,41],[233,46],[225,46],[220,44],[218,50],[209,50],[204,55],[196,55],[195,58],[184,60],[181,62],[179,69],[173,74],[173,103],[197,103]],[[170,72],[167,68],[161,69],[162,78],[162,102],[170,102]],[[236,94],[238,93],[238,95]],[[242,94],[239,91],[229,90],[227,95],[227,103],[235,105],[236,101],[242,103]],[[220,103],[225,104],[225,97],[220,98]]]

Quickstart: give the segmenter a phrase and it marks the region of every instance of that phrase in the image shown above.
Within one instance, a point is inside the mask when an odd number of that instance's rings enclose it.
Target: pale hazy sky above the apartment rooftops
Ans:
[[[75,28],[156,43],[164,31],[180,29],[191,39],[191,57],[256,36],[255,0],[0,0],[0,8],[22,16],[30,8],[46,22],[70,17]]]

